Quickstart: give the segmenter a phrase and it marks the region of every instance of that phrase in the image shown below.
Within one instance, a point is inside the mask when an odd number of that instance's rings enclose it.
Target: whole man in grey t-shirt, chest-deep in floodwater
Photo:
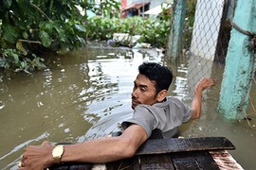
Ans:
[[[173,80],[172,70],[155,62],[144,62],[138,67],[134,81],[132,108],[134,115],[122,123],[118,137],[106,137],[82,144],[27,146],[20,169],[44,169],[64,161],[107,162],[133,157],[137,148],[160,129],[164,137],[173,137],[178,127],[201,113],[202,91],[213,86],[214,80],[202,78],[194,88],[191,107],[167,97]]]

